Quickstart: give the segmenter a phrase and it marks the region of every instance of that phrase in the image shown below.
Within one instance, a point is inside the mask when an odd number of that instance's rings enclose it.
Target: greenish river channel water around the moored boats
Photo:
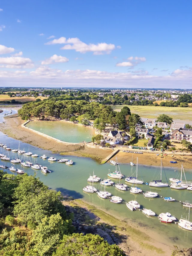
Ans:
[[[11,148],[18,148],[19,141],[14,140],[12,138],[7,137],[3,133],[0,132],[0,142],[10,144]],[[26,143],[20,142],[20,148],[25,148],[26,150],[30,150],[33,153],[37,153],[39,156],[46,154],[46,156],[55,156],[57,159],[61,158],[59,154],[52,154],[51,151],[43,150],[34,146],[31,146]],[[1,151],[1,147],[0,147]],[[6,153],[6,150],[2,148],[2,152]],[[9,152],[10,158],[15,157],[15,153]],[[41,165],[47,166],[52,172],[50,174],[43,174],[41,170],[36,170],[37,177],[40,179],[51,189],[60,190],[65,195],[72,196],[73,198],[84,199],[91,205],[96,205],[101,210],[105,210],[108,213],[116,216],[117,218],[125,219],[129,224],[132,223],[135,227],[142,227],[147,231],[151,231],[154,234],[158,234],[161,236],[163,241],[166,241],[166,244],[177,245],[184,247],[191,246],[192,232],[187,230],[182,230],[178,225],[173,224],[163,224],[160,223],[157,216],[154,217],[146,217],[141,211],[131,212],[125,205],[123,204],[113,204],[108,199],[101,199],[98,197],[96,193],[87,194],[82,191],[82,188],[86,186],[87,178],[90,174],[93,173],[102,179],[107,178],[108,170],[113,171],[115,166],[109,163],[104,165],[100,165],[97,162],[93,161],[89,158],[76,157],[76,156],[64,156],[64,158],[72,159],[74,161],[74,165],[66,165],[65,163],[57,163],[57,162],[49,162],[47,159],[43,160],[38,157],[38,163]],[[139,156],[138,156],[139,159]],[[129,159],[128,159],[129,161]],[[139,160],[140,162],[140,160]],[[12,164],[8,161],[1,161],[0,164],[4,164],[7,166],[11,166]],[[138,174],[140,175],[140,169],[142,171],[143,180],[145,182],[149,182],[155,174],[155,177],[160,171],[160,166],[144,166],[141,165],[138,168]],[[161,165],[161,163],[159,163]],[[20,164],[15,164],[16,168],[21,168]],[[120,168],[122,173],[127,176],[130,174],[131,166],[129,164],[121,164]],[[134,167],[135,168],[135,167]],[[29,167],[23,168],[25,172],[29,175],[34,174],[34,170]],[[175,168],[165,168],[167,179],[170,177],[175,177],[176,174],[179,173],[179,170]],[[11,173],[7,170],[8,173]],[[186,170],[186,178],[187,180],[192,180],[192,171]],[[116,181],[116,180],[114,180]],[[165,176],[163,175],[163,181],[165,181]],[[128,187],[131,187],[131,184],[127,183]],[[99,183],[96,183],[95,186],[99,186]],[[138,186],[143,189],[143,191],[150,191],[149,186],[143,184]],[[183,207],[179,201],[191,200],[192,201],[192,192],[189,190],[174,190],[170,189],[170,187],[165,188],[153,188],[151,191],[158,192],[161,196],[173,197],[177,201],[176,202],[166,202],[161,197],[158,198],[144,198],[143,194],[134,195],[129,191],[119,191],[115,186],[106,187],[106,190],[111,192],[113,195],[117,195],[123,198],[125,202],[130,200],[137,200],[141,204],[141,208],[147,208],[155,211],[158,215],[162,212],[170,212],[172,215],[175,215],[178,219],[181,215],[188,214],[188,208]],[[192,213],[190,216],[190,221],[192,221]]]

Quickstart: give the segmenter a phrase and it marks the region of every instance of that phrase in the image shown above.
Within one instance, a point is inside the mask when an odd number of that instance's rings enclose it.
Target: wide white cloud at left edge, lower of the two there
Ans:
[[[22,57],[0,57],[0,64],[5,64],[6,68],[32,68],[34,66],[31,59]]]

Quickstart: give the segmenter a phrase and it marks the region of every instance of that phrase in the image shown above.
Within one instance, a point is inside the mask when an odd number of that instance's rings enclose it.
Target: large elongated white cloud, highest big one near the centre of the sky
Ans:
[[[111,43],[86,44],[79,40],[79,38],[77,37],[69,39],[66,39],[65,37],[60,37],[45,44],[65,44],[63,47],[61,47],[61,50],[75,50],[76,52],[81,53],[93,52],[94,55],[101,55],[104,53],[110,54],[111,51],[115,49],[115,45]]]

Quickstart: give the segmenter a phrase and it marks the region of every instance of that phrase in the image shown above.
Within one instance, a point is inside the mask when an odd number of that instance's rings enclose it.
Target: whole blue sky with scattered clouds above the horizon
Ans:
[[[185,0],[3,0],[0,86],[191,88],[191,24]]]

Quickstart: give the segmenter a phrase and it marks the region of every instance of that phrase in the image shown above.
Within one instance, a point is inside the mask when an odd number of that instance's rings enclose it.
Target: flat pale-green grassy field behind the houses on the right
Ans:
[[[169,115],[174,121],[184,121],[185,124],[192,124],[192,108],[161,107],[161,106],[128,106],[131,113],[138,114],[142,118],[157,118],[161,114]],[[121,111],[123,105],[113,106],[117,112]]]

